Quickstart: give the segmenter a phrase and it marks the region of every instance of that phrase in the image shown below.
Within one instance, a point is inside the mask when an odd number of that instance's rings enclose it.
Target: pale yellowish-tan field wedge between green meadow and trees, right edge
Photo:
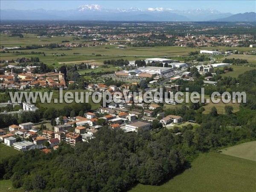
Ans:
[[[242,143],[221,150],[222,154],[256,161],[256,141]]]

